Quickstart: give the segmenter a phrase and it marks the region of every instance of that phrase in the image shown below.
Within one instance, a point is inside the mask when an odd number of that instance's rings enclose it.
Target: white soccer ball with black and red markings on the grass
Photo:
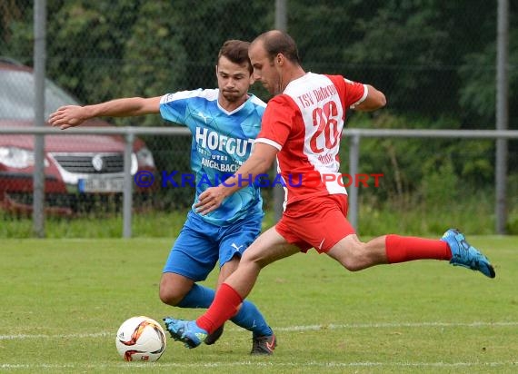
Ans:
[[[165,333],[156,320],[132,317],[117,331],[115,346],[126,361],[156,361],[165,350]]]

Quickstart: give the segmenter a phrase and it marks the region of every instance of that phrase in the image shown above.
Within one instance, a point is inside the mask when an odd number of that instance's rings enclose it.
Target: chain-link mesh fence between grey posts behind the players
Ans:
[[[513,37],[518,29],[513,20],[518,9],[511,3],[509,84],[513,103],[518,89],[518,37]],[[272,0],[216,0],[196,2],[195,6],[187,0],[48,0],[45,115],[62,104],[213,88],[221,44],[227,39],[250,41],[274,28],[274,5]],[[344,74],[373,84],[387,95],[386,110],[351,113],[349,127],[494,128],[496,3],[301,0],[286,2],[286,17],[287,31],[297,41],[307,71]],[[30,125],[34,119],[34,2],[0,2],[0,20],[0,124]],[[269,98],[257,84],[251,92],[264,101]],[[509,127],[518,128],[516,105],[510,106],[509,118]],[[158,115],[104,118],[96,124],[174,125],[164,123]],[[18,220],[31,209],[34,137],[0,136],[3,220]],[[188,134],[137,137],[133,175],[139,171],[156,175],[190,172],[190,145]],[[363,142],[361,171],[383,172],[384,184],[376,190],[361,190],[362,201],[378,210],[395,206],[404,211],[405,204],[423,198],[434,205],[437,196],[433,193],[439,192],[431,191],[441,185],[441,178],[453,183],[454,191],[441,197],[441,203],[458,200],[460,190],[468,193],[466,185],[492,196],[494,142],[463,141],[458,145],[455,140]],[[119,216],[124,146],[118,135],[45,136],[49,216]],[[509,146],[509,192],[514,193],[511,182],[518,173],[518,144],[512,140]],[[346,149],[342,157],[347,172]],[[437,171],[443,176],[433,179]],[[107,174],[111,182],[95,178],[88,182],[81,177],[85,174]],[[273,207],[272,196],[270,189],[264,189],[266,210]],[[515,195],[510,196],[513,212]],[[134,208],[143,214],[185,212],[193,197],[193,188],[134,185]],[[518,220],[510,224],[518,226]]]

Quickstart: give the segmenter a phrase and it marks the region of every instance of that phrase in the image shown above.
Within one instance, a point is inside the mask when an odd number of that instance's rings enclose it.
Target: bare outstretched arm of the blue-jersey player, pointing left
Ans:
[[[55,127],[65,130],[84,123],[95,117],[129,117],[160,113],[161,96],[143,98],[126,97],[94,105],[65,105],[51,113],[48,122]]]

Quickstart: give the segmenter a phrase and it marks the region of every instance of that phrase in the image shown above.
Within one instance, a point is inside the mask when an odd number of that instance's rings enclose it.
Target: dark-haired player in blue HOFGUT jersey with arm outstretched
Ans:
[[[254,83],[248,59],[249,43],[229,40],[219,51],[215,68],[218,89],[198,89],[151,98],[130,97],[94,105],[63,106],[49,117],[61,129],[77,126],[100,116],[136,116],[160,113],[172,123],[187,126],[193,133],[191,167],[198,196],[235,172],[249,157],[261,128],[266,104],[248,89]],[[210,181],[210,183],[206,181]],[[205,182],[204,182],[205,181]],[[207,215],[193,209],[165,262],[160,281],[160,299],[180,308],[208,308],[214,290],[198,284],[219,260],[218,285],[236,268],[246,248],[261,231],[263,201],[258,186],[250,185],[229,196]],[[274,331],[261,312],[245,300],[232,321],[253,331],[252,354],[272,354]],[[205,341],[214,344],[223,326]]]

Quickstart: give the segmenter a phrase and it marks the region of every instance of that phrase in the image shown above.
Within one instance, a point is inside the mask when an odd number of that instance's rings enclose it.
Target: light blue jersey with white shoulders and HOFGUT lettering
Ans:
[[[207,188],[221,184],[239,169],[250,156],[261,130],[266,103],[250,94],[243,105],[227,112],[218,103],[218,94],[218,89],[198,89],[165,94],[160,101],[165,120],[184,124],[193,133],[194,203]],[[192,209],[195,212],[194,204]],[[263,214],[261,192],[254,184],[234,192],[214,212],[200,217],[223,226],[250,214]]]

